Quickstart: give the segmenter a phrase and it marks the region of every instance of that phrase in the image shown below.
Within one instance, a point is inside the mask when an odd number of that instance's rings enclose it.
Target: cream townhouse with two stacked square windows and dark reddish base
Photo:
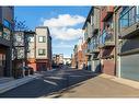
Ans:
[[[36,69],[51,69],[51,36],[47,26],[38,26],[36,33]]]

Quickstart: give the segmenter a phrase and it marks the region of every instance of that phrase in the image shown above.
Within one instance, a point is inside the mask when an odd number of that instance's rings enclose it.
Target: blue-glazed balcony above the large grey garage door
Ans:
[[[120,37],[132,38],[138,36],[139,33],[139,8],[132,7],[119,19]]]

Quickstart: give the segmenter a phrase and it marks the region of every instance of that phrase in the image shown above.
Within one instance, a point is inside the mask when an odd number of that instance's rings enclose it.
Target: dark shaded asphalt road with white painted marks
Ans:
[[[55,70],[42,72],[39,77],[24,85],[0,94],[0,97],[42,97],[60,91],[67,86],[95,77],[94,73],[83,70]]]

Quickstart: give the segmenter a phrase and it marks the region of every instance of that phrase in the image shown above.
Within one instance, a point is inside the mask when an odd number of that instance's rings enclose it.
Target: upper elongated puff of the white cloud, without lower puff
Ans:
[[[58,18],[51,18],[44,21],[44,25],[49,27],[74,26],[85,21],[85,18],[80,15],[59,14]]]

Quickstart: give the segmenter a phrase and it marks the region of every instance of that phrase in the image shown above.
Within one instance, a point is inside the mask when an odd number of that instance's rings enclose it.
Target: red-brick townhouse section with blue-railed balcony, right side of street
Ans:
[[[102,72],[116,76],[114,7],[101,7],[100,49]]]

